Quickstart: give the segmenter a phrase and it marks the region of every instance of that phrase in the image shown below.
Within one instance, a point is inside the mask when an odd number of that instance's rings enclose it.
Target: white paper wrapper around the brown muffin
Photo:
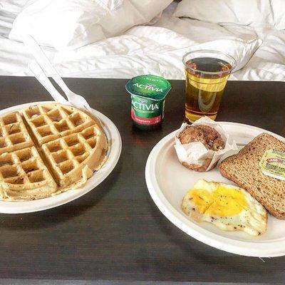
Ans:
[[[175,135],[174,145],[177,157],[182,165],[197,171],[209,171],[217,165],[217,162],[222,156],[229,154],[229,152],[234,154],[238,151],[234,139],[225,133],[221,125],[214,120],[211,120],[208,117],[202,117],[195,121],[195,123],[192,123],[192,126],[194,125],[208,125],[217,130],[221,135],[222,140],[224,140],[224,149],[217,151],[207,150],[207,147],[205,147],[202,142],[190,142],[182,145],[178,135],[188,126],[187,123],[183,123],[180,130]]]

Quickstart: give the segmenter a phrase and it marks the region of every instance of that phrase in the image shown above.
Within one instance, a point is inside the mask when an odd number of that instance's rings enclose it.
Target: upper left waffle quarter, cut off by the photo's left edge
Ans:
[[[0,118],[0,155],[32,145],[33,141],[19,112],[9,113]]]

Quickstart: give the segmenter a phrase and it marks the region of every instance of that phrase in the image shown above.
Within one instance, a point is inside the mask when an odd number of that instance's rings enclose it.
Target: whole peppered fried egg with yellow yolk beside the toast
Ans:
[[[266,231],[267,212],[249,192],[234,185],[200,179],[182,200],[182,211],[196,222],[253,236]]]

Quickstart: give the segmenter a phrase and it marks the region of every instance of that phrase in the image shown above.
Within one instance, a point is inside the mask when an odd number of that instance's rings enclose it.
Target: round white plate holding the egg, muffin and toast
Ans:
[[[250,125],[220,122],[222,128],[234,137],[239,148],[260,133],[270,133],[279,140],[285,139],[267,130]],[[234,184],[219,174],[217,167],[209,172],[195,172],[183,167],[175,152],[175,132],[170,133],[150,152],[145,167],[145,180],[152,199],[162,214],[191,237],[217,249],[252,257],[278,257],[285,255],[285,221],[269,214],[266,233],[252,237],[244,232],[224,232],[207,222],[197,223],[180,208],[182,198],[200,178]]]

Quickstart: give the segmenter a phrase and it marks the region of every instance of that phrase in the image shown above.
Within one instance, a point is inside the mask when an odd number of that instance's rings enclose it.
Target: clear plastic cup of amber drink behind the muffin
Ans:
[[[185,121],[217,117],[224,87],[236,66],[232,56],[219,51],[190,51],[183,56],[186,74]]]

